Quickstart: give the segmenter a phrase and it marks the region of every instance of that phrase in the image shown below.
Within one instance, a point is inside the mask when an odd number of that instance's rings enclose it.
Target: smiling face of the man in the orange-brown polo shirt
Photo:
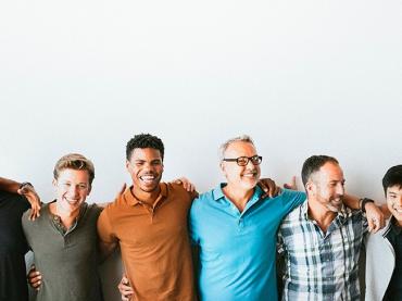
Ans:
[[[163,173],[161,152],[152,148],[136,148],[133,150],[126,167],[131,176],[134,189],[139,192],[159,190]]]

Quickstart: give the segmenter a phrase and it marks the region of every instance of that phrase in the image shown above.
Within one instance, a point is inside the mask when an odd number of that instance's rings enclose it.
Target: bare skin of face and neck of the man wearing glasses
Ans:
[[[227,159],[254,155],[257,155],[255,147],[244,141],[230,143],[224,153],[224,156]],[[223,161],[221,170],[227,179],[227,185],[223,188],[225,196],[242,212],[259,183],[261,175],[260,165],[254,165],[251,160],[249,160],[246,166],[239,166],[236,162]]]

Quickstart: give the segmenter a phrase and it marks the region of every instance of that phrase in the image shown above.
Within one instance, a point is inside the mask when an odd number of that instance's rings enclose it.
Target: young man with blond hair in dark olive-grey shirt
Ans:
[[[91,161],[81,154],[62,156],[53,171],[55,200],[43,205],[23,228],[41,273],[37,301],[101,300],[97,272],[97,220],[101,209],[87,204],[95,178]]]

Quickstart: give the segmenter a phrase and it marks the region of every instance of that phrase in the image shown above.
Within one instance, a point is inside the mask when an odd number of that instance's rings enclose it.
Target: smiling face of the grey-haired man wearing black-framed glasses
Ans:
[[[246,141],[235,141],[230,143],[225,150],[225,159],[237,159],[239,156],[254,156],[257,155],[255,147]],[[254,165],[249,160],[246,166],[239,166],[236,162],[221,163],[221,168],[227,179],[228,186],[250,190],[259,183],[261,170],[260,165]]]

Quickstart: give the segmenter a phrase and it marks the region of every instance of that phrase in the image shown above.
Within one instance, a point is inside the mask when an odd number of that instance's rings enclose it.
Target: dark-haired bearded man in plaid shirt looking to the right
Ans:
[[[285,254],[282,300],[359,300],[360,249],[368,223],[363,210],[343,204],[343,172],[335,158],[313,155],[302,168],[307,201],[279,228]],[[368,201],[368,202],[367,202]]]

